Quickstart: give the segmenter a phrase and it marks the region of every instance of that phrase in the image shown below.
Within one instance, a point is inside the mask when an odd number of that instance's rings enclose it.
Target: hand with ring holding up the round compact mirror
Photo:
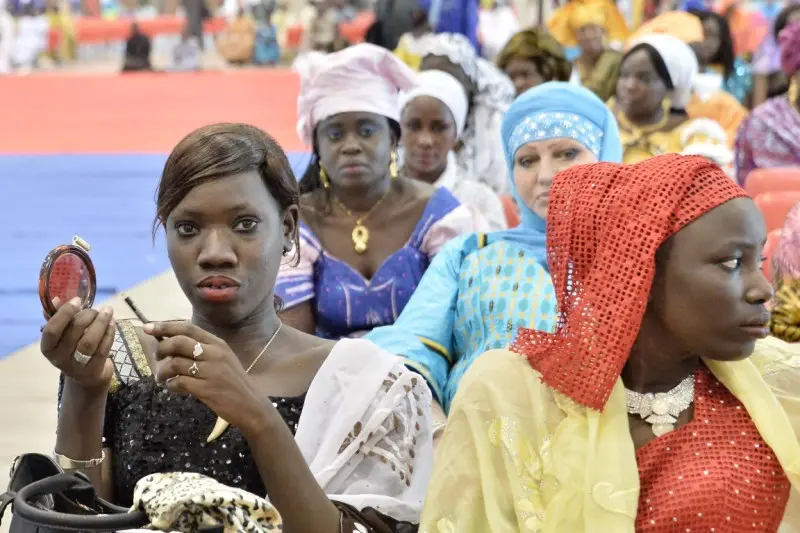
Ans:
[[[114,310],[81,309],[80,298],[65,304],[56,298],[53,304],[57,311],[42,328],[42,354],[82,387],[106,391],[114,377],[114,362],[108,357],[114,343]]]

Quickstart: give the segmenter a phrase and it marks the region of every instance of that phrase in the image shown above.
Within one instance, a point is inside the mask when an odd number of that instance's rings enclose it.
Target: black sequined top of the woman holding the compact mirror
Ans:
[[[297,430],[305,397],[273,398],[273,404]],[[109,397],[106,446],[113,450],[114,499],[130,505],[136,482],[153,473],[194,472],[223,485],[266,494],[242,433],[235,427],[211,443],[217,416],[202,402],[173,394],[144,378]]]

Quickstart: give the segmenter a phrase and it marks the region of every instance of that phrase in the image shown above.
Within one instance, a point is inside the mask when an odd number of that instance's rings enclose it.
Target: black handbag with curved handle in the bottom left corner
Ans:
[[[0,495],[0,520],[9,505],[13,510],[9,533],[111,533],[150,522],[142,511],[131,513],[98,497],[84,474],[65,473],[38,453],[14,461],[8,491]]]

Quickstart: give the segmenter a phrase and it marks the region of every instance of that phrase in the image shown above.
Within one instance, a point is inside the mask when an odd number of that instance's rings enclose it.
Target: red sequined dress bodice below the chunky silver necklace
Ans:
[[[705,367],[694,418],[636,453],[637,533],[778,531],[791,485],[741,402]]]

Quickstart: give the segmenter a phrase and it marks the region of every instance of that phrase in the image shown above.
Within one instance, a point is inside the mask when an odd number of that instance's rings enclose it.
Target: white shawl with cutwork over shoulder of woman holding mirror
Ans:
[[[421,377],[369,341],[344,339],[311,384],[296,440],[332,500],[418,523],[432,425]]]

